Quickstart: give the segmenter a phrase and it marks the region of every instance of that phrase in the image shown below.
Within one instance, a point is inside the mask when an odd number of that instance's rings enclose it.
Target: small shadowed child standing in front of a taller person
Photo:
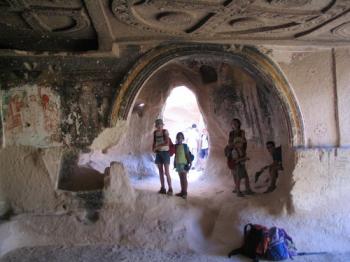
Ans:
[[[245,141],[241,137],[237,137],[233,141],[234,148],[232,150],[232,159],[235,163],[234,168],[232,169],[233,180],[235,182],[233,193],[236,193],[238,197],[244,196],[240,189],[241,179],[245,180],[245,194],[254,194],[250,188],[249,177],[245,168],[245,161],[249,160],[249,158],[246,156],[244,143]]]

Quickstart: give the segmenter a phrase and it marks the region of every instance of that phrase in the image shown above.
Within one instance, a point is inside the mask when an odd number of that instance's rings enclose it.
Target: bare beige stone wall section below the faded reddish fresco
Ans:
[[[15,213],[54,212],[62,210],[64,204],[68,206],[62,193],[55,191],[59,158],[56,149],[14,146],[2,149],[0,202],[8,203]]]

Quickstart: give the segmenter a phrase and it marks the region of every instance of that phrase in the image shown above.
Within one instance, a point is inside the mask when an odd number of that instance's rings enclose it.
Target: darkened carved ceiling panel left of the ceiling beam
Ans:
[[[0,47],[81,51],[98,45],[81,0],[0,0]]]

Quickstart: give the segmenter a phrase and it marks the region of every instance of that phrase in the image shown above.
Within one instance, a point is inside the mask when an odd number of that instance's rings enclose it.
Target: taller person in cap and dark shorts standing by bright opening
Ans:
[[[153,132],[153,152],[156,153],[155,163],[158,166],[159,178],[160,178],[160,190],[159,194],[173,194],[173,188],[171,186],[171,177],[169,172],[170,154],[169,154],[169,132],[163,129],[164,123],[162,119],[155,121],[156,130]],[[168,191],[165,189],[164,175],[167,178]]]

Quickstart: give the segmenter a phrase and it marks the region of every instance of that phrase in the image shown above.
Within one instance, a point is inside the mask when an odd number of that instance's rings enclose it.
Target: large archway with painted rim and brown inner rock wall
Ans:
[[[232,118],[239,118],[247,133],[248,154],[253,160],[247,168],[251,179],[259,167],[269,161],[265,143],[273,140],[283,148],[284,172],[288,176],[282,184],[288,196],[294,169],[293,147],[304,145],[303,123],[292,90],[278,67],[249,47],[228,51],[223,46],[194,44],[152,50],[128,74],[111,114],[112,126],[118,119],[127,121],[132,130],[127,141],[141,138],[137,148],[130,152],[139,155],[150,152],[154,120],[171,89],[178,85],[186,85],[196,94],[208,123],[213,154],[206,172],[228,173],[223,148]],[[142,114],[133,116],[138,111],[135,107],[141,104],[144,105]],[[265,181],[269,183],[268,175]],[[261,193],[264,187],[264,184],[257,185],[256,190]]]

